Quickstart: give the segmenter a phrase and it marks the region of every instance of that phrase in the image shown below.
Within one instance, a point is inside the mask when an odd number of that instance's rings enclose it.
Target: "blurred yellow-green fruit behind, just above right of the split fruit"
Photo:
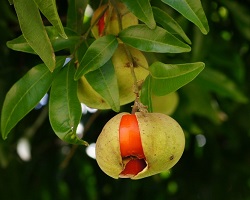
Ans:
[[[179,103],[177,92],[171,92],[164,96],[152,95],[153,112],[172,115]]]

